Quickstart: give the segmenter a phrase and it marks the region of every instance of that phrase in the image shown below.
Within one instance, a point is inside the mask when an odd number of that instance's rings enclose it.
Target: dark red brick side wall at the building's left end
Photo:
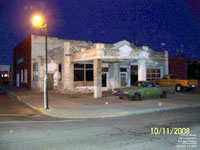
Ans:
[[[21,81],[21,71],[27,69],[27,82]],[[16,85],[16,75],[19,73],[19,86],[31,88],[31,35],[25,38],[13,49],[13,84]],[[24,76],[24,75],[23,75]]]

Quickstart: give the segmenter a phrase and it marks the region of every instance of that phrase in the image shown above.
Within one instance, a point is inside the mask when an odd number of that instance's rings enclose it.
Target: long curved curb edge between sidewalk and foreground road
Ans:
[[[65,118],[65,119],[91,119],[91,118],[112,118],[112,117],[123,117],[123,116],[130,116],[130,115],[143,115],[147,113],[154,113],[154,112],[163,112],[163,111],[169,111],[169,110],[178,110],[178,109],[184,109],[184,108],[193,108],[193,107],[199,107],[200,104],[197,105],[182,105],[182,106],[169,106],[169,107],[160,107],[160,108],[153,108],[153,109],[146,109],[146,110],[141,110],[141,111],[121,111],[119,113],[111,114],[111,115],[106,115],[106,116],[97,116],[97,117],[59,117],[57,115],[52,115],[47,113],[41,108],[35,107],[29,103],[24,102],[19,96],[16,96],[12,92],[5,91],[8,97],[14,97],[18,99],[19,101],[23,102],[24,104],[28,105],[32,109],[40,112],[43,115],[50,116],[50,117],[55,117],[55,118]]]

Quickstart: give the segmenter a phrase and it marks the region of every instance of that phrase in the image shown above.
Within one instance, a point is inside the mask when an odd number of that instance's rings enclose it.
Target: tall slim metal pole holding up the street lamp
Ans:
[[[45,30],[45,81],[44,81],[44,108],[49,109],[48,106],[48,53],[47,53],[47,24],[44,27]]]

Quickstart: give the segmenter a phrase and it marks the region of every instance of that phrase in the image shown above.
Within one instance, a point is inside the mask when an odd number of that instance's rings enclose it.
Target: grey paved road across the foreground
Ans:
[[[191,148],[196,150],[200,149],[199,116],[197,107],[107,119],[0,122],[0,150],[173,150],[184,146],[182,136],[152,135],[152,127],[189,128],[197,136],[193,140],[197,147]]]

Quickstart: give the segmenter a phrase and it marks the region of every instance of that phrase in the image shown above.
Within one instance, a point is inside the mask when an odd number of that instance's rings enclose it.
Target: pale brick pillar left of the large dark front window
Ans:
[[[63,84],[64,92],[70,93],[74,90],[74,65],[72,63],[72,54],[70,50],[70,43],[64,43],[64,54],[63,54]]]

